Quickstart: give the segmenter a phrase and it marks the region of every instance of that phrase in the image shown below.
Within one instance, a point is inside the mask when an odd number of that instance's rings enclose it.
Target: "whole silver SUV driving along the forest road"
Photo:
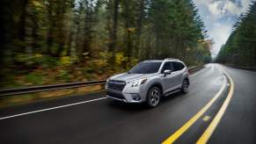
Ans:
[[[160,98],[174,92],[188,92],[189,73],[178,59],[147,60],[126,73],[111,76],[106,81],[106,97],[126,103],[146,102],[156,107]]]

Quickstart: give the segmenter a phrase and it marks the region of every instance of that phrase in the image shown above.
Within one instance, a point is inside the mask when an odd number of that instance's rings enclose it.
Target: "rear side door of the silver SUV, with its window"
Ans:
[[[172,68],[173,89],[179,89],[182,84],[183,69],[185,66],[178,61],[172,61]]]

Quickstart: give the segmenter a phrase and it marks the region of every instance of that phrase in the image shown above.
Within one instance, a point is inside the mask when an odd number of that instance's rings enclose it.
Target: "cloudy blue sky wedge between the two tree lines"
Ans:
[[[248,10],[256,0],[193,0],[208,31],[209,39],[214,40],[212,57],[230,36],[232,25],[241,13]]]

